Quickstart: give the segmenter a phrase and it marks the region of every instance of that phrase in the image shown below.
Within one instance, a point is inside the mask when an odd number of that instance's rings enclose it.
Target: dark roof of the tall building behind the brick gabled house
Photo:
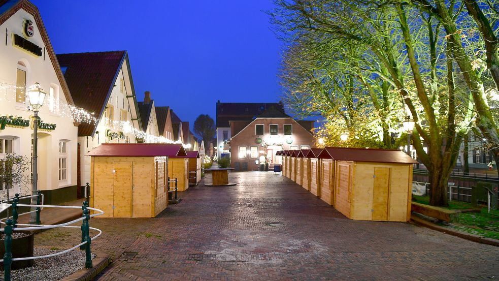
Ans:
[[[251,121],[272,106],[284,112],[282,103],[220,103],[218,101],[216,128],[229,127],[229,121]]]

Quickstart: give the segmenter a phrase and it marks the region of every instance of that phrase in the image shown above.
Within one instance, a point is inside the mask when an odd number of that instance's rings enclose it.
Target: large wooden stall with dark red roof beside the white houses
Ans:
[[[90,155],[90,206],[103,217],[155,217],[168,206],[167,165],[181,144],[106,143]]]

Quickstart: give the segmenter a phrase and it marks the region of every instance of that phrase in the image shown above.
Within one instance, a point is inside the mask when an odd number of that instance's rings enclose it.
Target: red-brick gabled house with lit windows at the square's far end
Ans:
[[[280,164],[280,150],[310,149],[314,121],[295,120],[281,108],[270,107],[251,121],[229,121],[230,162],[243,171],[258,169],[260,162]]]

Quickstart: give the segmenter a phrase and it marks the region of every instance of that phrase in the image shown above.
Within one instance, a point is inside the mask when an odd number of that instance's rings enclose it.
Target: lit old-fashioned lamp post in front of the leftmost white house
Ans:
[[[31,110],[35,113],[33,118],[33,189],[32,195],[34,197],[31,198],[31,204],[37,204],[37,195],[38,191],[38,111],[40,107],[43,105],[43,101],[45,100],[46,92],[40,88],[40,83],[35,83],[35,86],[28,90],[29,97],[29,105],[31,106]],[[35,212],[31,213],[30,217],[31,224],[40,224],[40,218],[37,219],[37,214]]]

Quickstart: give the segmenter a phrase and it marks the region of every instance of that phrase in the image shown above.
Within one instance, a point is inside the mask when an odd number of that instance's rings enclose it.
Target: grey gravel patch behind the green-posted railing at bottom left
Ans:
[[[52,251],[45,248],[35,248],[35,256],[43,256],[61,252],[61,250]],[[92,254],[92,259],[95,255]],[[60,280],[85,267],[85,252],[79,249],[74,249],[69,253],[59,256],[37,259],[35,265],[11,271],[11,279],[26,281],[26,280]],[[4,270],[0,270],[2,276],[0,280],[4,280]]]

